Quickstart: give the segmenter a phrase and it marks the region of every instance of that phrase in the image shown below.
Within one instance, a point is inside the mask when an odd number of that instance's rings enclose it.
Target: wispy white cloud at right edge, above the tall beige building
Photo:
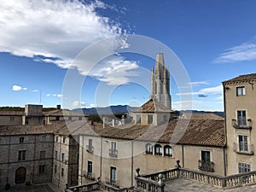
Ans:
[[[224,50],[224,53],[218,55],[213,62],[221,63],[253,60],[256,60],[256,42],[247,42]]]

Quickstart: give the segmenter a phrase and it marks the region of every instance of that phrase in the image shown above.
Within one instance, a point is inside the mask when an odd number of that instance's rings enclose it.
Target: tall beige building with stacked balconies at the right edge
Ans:
[[[256,74],[224,81],[228,175],[256,168]]]

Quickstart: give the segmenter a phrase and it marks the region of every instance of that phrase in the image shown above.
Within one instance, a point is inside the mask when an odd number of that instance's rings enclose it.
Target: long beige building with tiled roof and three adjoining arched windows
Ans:
[[[137,167],[142,174],[159,172],[175,167],[177,160],[184,168],[224,176],[224,119],[191,119],[178,143],[171,143],[177,122],[184,121],[188,119],[172,119],[161,133],[160,126],[150,125],[95,131],[81,127],[79,184],[101,177],[113,186],[131,187]]]

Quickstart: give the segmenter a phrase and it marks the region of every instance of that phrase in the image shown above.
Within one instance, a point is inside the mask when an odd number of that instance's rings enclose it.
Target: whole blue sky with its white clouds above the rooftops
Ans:
[[[173,109],[189,102],[181,95],[191,94],[193,109],[223,110],[221,82],[256,73],[255,9],[253,0],[5,1],[0,4],[0,106],[41,101],[54,107],[65,99],[71,99],[68,108],[147,102],[148,84],[134,80],[138,69],[154,66],[147,56],[117,53],[95,70],[74,62],[101,39],[136,34],[166,44],[189,75],[190,93],[179,92],[172,79]],[[172,71],[175,63],[166,65]],[[62,92],[70,70],[84,79],[73,100]],[[148,73],[141,78],[149,81]],[[99,92],[99,84],[112,92]]]

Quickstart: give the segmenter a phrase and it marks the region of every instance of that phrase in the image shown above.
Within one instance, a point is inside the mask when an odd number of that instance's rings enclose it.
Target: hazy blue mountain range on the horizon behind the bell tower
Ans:
[[[84,114],[111,114],[111,113],[131,113],[133,110],[137,108],[131,107],[129,105],[117,105],[117,106],[110,106],[106,108],[75,108],[73,109],[73,111],[77,113],[81,113],[81,109]],[[177,114],[182,112],[191,112],[191,110],[177,111]],[[192,110],[192,113],[214,113],[221,117],[224,117],[224,112],[221,112],[221,111],[208,112],[208,111]]]

